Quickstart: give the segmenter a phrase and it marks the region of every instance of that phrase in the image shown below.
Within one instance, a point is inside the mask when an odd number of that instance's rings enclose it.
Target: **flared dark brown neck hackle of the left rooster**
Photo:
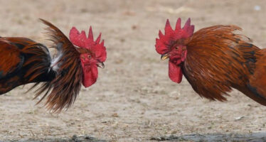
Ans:
[[[55,62],[55,64],[60,65],[56,71],[55,78],[50,82],[44,82],[36,97],[46,91],[39,102],[47,96],[47,108],[53,111],[61,111],[63,108],[70,107],[80,92],[80,81],[82,80],[83,72],[79,53],[58,28],[48,21],[43,19],[41,21],[48,26],[47,31],[50,35],[50,40],[53,42],[51,48],[62,50],[63,53],[61,53],[62,57],[58,62]]]

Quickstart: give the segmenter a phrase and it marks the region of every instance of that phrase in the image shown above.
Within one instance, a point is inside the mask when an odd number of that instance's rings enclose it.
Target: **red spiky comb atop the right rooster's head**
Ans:
[[[156,51],[159,54],[169,52],[169,45],[175,43],[176,40],[181,38],[188,38],[194,32],[194,26],[191,25],[191,19],[188,18],[183,28],[181,28],[181,18],[176,21],[176,28],[171,28],[170,22],[167,19],[166,26],[164,28],[164,34],[159,31],[159,38],[156,38]]]

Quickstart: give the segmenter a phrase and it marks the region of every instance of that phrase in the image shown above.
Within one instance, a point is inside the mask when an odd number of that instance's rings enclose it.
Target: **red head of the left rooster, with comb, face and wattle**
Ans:
[[[93,40],[92,28],[90,27],[89,35],[86,36],[85,31],[81,33],[73,27],[70,30],[70,41],[78,46],[80,52],[80,61],[83,67],[83,85],[90,87],[97,80],[97,67],[105,67],[103,62],[106,60],[106,48],[104,40],[100,42],[101,34],[96,40]]]

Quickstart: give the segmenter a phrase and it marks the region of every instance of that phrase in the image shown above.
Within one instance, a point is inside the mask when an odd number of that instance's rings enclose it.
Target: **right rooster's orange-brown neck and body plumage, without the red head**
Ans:
[[[266,105],[266,52],[236,30],[241,29],[211,26],[194,33],[186,44],[183,75],[202,97],[224,101],[233,87]]]

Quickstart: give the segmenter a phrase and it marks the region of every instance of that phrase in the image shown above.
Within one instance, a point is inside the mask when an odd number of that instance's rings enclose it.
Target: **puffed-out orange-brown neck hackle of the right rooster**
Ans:
[[[188,55],[183,65],[184,75],[198,94],[208,99],[226,100],[223,94],[231,87],[245,85],[250,73],[245,65],[247,56],[243,52],[258,50],[245,42],[242,35],[233,33],[240,30],[237,26],[212,26],[193,34],[186,45]],[[254,55],[253,55],[254,56]],[[252,62],[247,62],[252,64]],[[251,67],[251,65],[250,65]],[[252,68],[252,67],[251,67]],[[251,69],[252,70],[252,69]],[[200,83],[204,82],[204,83]]]

